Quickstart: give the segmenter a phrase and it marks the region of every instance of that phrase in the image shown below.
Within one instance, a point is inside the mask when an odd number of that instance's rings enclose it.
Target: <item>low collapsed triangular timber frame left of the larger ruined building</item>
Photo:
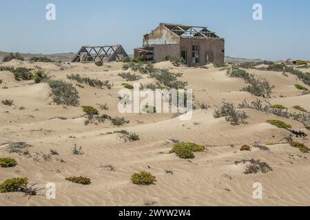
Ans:
[[[72,59],[76,62],[110,62],[121,60],[128,56],[122,45],[105,45],[105,46],[82,46],[79,52]]]

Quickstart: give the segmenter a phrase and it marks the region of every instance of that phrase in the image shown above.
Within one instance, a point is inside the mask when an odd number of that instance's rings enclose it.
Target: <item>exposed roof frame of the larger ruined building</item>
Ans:
[[[219,36],[217,36],[215,32],[209,31],[207,27],[179,25],[174,23],[160,23],[160,25],[164,25],[166,28],[183,38],[219,38]]]

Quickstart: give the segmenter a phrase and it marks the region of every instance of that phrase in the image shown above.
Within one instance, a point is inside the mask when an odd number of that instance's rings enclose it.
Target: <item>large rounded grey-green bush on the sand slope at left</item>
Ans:
[[[79,104],[79,93],[71,83],[63,80],[49,80],[53,100],[56,104],[77,106]]]

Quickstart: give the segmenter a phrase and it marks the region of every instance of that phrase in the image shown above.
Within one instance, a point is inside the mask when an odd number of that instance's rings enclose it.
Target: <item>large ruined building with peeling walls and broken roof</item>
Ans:
[[[188,66],[224,63],[225,40],[207,27],[160,23],[144,35],[143,47],[134,49],[134,58],[139,56],[154,62],[166,56],[183,58]]]

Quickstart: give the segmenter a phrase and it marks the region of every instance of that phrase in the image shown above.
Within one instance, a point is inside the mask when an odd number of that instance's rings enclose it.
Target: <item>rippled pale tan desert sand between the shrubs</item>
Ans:
[[[247,124],[233,126],[225,118],[214,118],[216,106],[225,102],[236,105],[242,100],[256,100],[256,96],[240,91],[245,82],[226,76],[226,70],[208,65],[208,69],[174,67],[169,61],[155,67],[168,68],[183,74],[180,80],[188,82],[196,102],[205,102],[208,109],[194,110],[192,120],[181,121],[172,113],[118,113],[118,90],[126,83],[117,76],[123,72],[123,63],[29,63],[10,61],[2,66],[41,67],[49,76],[71,82],[79,91],[80,107],[65,107],[52,102],[47,83],[34,84],[32,80],[17,82],[10,72],[0,72],[3,80],[0,100],[14,100],[12,106],[0,104],[0,157],[12,157],[17,166],[0,167],[0,182],[12,177],[28,177],[30,183],[45,187],[56,184],[56,199],[41,195],[23,197],[21,192],[0,194],[1,206],[309,206],[310,156],[289,144],[269,145],[269,151],[251,148],[240,151],[243,144],[253,145],[283,142],[290,134],[285,129],[268,124],[278,119],[310,134],[304,125],[295,120],[280,118],[271,113],[245,109]],[[105,70],[105,71],[103,71]],[[269,101],[293,109],[300,105],[310,111],[310,95],[302,95],[295,84],[304,85],[296,76],[283,76],[281,72],[249,69],[256,76],[266,77],[275,86]],[[310,72],[310,70],[309,70]],[[112,89],[96,89],[83,84],[76,86],[67,74],[81,74],[90,78],[110,80]],[[137,73],[139,74],[139,73]],[[139,74],[141,75],[141,74]],[[141,75],[137,82],[149,83],[152,78]],[[128,83],[128,82],[127,82]],[[130,82],[132,84],[132,82]],[[8,87],[2,89],[3,86]],[[107,103],[108,110],[98,104]],[[114,126],[110,122],[85,125],[82,105],[99,109],[100,113],[116,115],[130,120],[129,124]],[[24,107],[24,109],[20,109]],[[139,135],[136,142],[124,142],[117,134],[106,134],[125,129]],[[207,151],[195,153],[193,159],[180,159],[169,154],[172,138],[182,142],[204,145]],[[307,138],[294,137],[310,146]],[[31,144],[29,155],[9,153],[10,142]],[[74,143],[82,146],[83,155],[73,155]],[[43,159],[43,153],[55,149],[59,155]],[[34,159],[36,158],[36,159]],[[268,173],[245,174],[242,159],[260,159],[271,166]],[[105,167],[112,164],[114,170]],[[173,174],[165,173],[172,170]],[[134,172],[148,171],[156,176],[149,186],[132,184]],[[90,185],[73,184],[65,177],[85,176]],[[262,184],[262,199],[253,198],[253,184]]]

